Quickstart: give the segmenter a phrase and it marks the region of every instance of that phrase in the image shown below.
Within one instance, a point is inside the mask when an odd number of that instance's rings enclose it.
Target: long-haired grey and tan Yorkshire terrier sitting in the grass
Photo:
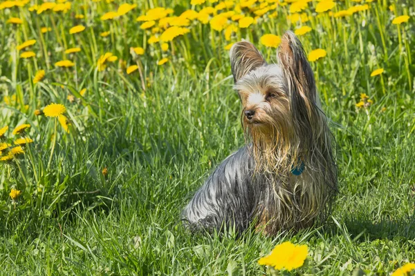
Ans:
[[[312,226],[337,193],[331,132],[302,43],[286,32],[278,64],[247,41],[230,50],[243,106],[246,146],[232,153],[183,210],[192,230],[245,230],[252,221],[273,235]]]

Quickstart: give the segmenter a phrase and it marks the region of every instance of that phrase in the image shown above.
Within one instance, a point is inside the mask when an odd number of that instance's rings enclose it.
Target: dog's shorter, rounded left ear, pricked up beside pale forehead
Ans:
[[[241,41],[230,48],[230,65],[236,83],[248,72],[266,64],[261,52],[252,43]]]

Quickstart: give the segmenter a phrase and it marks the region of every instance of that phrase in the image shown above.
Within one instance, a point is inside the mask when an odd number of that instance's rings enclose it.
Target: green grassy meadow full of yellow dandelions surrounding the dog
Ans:
[[[407,275],[414,0],[0,3],[1,275]],[[336,140],[326,224],[190,235],[182,208],[243,146],[229,49],[293,30]],[[304,265],[258,263],[283,242]],[[400,267],[407,268],[399,270]],[[409,275],[409,274],[408,274]]]

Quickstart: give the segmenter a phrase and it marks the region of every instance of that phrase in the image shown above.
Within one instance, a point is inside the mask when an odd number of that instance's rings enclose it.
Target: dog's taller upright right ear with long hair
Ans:
[[[304,99],[315,102],[316,89],[313,70],[307,61],[302,43],[288,31],[282,37],[278,51],[279,65],[288,80],[289,89]]]

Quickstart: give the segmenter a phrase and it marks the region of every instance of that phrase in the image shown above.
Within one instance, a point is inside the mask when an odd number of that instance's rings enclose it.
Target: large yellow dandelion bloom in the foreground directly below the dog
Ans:
[[[303,266],[308,254],[306,245],[295,245],[291,242],[283,242],[275,246],[270,255],[259,259],[259,265],[273,266],[277,270],[291,271]]]

